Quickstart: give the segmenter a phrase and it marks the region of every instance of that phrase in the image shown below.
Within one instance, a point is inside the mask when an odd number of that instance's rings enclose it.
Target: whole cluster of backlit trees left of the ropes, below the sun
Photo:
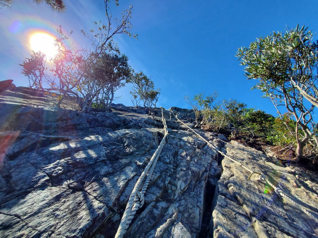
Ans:
[[[118,1],[115,4],[118,6]],[[81,31],[92,43],[91,48],[77,49],[69,44],[67,40],[73,32],[67,34],[60,26],[55,41],[57,54],[47,59],[42,52],[33,52],[30,58],[20,64],[22,73],[29,78],[31,88],[57,95],[58,107],[69,95],[76,97],[83,112],[88,112],[92,107],[108,111],[116,99],[115,91],[126,83],[132,83],[133,98],[142,100],[143,105],[151,111],[156,107],[160,90],[155,90],[153,81],[142,72],[134,72],[128,64],[128,57],[121,54],[113,40],[116,34],[137,38],[131,32],[132,6],[123,11],[120,21],[112,19],[109,1],[105,1],[105,10],[107,25],[94,22],[97,29],[89,33]],[[47,60],[53,65],[51,69],[46,66]]]

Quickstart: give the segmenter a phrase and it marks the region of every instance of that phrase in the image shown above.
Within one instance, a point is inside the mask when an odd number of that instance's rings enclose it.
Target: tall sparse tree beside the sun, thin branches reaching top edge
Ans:
[[[115,4],[118,6],[117,0],[115,0]],[[58,107],[66,95],[73,95],[77,97],[81,109],[86,110],[87,102],[89,102],[89,100],[84,100],[83,103],[79,94],[81,94],[81,92],[90,94],[91,89],[95,87],[95,79],[90,76],[92,74],[91,70],[103,52],[119,53],[119,49],[114,43],[113,36],[116,34],[123,34],[137,38],[137,35],[131,32],[131,10],[132,6],[129,6],[128,10],[122,12],[121,18],[113,19],[109,8],[109,1],[105,1],[107,24],[94,22],[97,30],[90,30],[88,33],[81,30],[82,34],[92,43],[92,46],[89,49],[77,49],[74,45],[68,44],[67,39],[73,31],[66,34],[60,26],[57,30],[58,36],[56,39],[58,53],[54,58],[50,59],[53,67],[46,71],[46,82],[44,82],[47,86],[45,90],[59,94]],[[33,68],[33,71],[37,70],[37,68]],[[31,69],[30,72],[33,71]],[[118,85],[114,87],[118,87]],[[84,98],[89,98],[91,95],[88,95],[87,97],[86,95],[83,96]]]

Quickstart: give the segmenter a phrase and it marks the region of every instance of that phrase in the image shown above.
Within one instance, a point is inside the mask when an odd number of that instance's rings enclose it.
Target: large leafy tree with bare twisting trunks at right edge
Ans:
[[[310,143],[318,147],[315,133],[315,107],[318,96],[318,44],[304,26],[273,32],[257,38],[249,48],[241,47],[236,56],[245,66],[248,79],[258,79],[253,87],[264,92],[281,115],[278,107],[285,105],[294,116],[296,158],[303,158],[303,148]]]

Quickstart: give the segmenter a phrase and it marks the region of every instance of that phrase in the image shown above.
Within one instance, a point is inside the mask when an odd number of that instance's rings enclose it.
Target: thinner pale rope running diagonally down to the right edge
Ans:
[[[165,109],[167,110],[167,109]],[[168,111],[168,110],[167,110]],[[204,139],[204,137],[202,137],[201,135],[199,135],[194,129],[192,129],[191,127],[189,127],[187,124],[185,124],[184,122],[182,122],[171,110],[171,108],[169,109],[170,113],[172,113],[177,121],[181,122],[183,125],[185,125],[186,127],[188,127],[193,133],[195,133],[197,136],[199,136],[204,142],[206,142],[210,147],[212,147],[213,149],[217,150],[218,153],[220,153],[221,155],[223,155],[225,158],[231,160],[232,162],[236,163],[237,165],[239,165],[240,167],[246,169],[248,172],[250,172],[250,175],[248,176],[248,180],[252,177],[253,174],[258,174],[257,179],[261,182],[267,182],[267,184],[269,184],[275,191],[276,194],[282,196],[283,198],[285,198],[287,201],[291,202],[292,204],[294,204],[297,208],[299,208],[301,211],[303,211],[306,215],[308,215],[311,219],[313,219],[314,221],[318,222],[318,219],[312,215],[307,209],[305,209],[303,206],[299,205],[297,202],[295,202],[293,199],[291,199],[289,196],[287,196],[283,190],[279,187],[276,187],[272,182],[269,181],[268,177],[262,173],[258,173],[258,172],[254,172],[251,169],[248,169],[246,166],[244,166],[242,163],[234,160],[233,158],[225,155],[222,151],[218,150],[215,146],[213,146],[210,142],[208,142],[206,139]],[[314,211],[312,211],[314,212]],[[314,212],[315,213],[315,212]]]

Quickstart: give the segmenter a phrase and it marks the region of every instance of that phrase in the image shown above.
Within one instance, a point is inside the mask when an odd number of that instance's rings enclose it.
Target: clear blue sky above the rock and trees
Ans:
[[[0,80],[13,79],[27,86],[21,74],[25,57],[31,53],[30,32],[42,30],[56,35],[59,25],[74,33],[70,41],[84,45],[80,30],[93,28],[93,21],[106,20],[104,1],[64,0],[66,12],[51,10],[45,3],[16,1],[10,9],[0,9]],[[199,92],[219,91],[219,100],[234,98],[248,107],[276,115],[261,92],[250,90],[256,80],[246,80],[243,66],[234,56],[238,47],[248,46],[256,37],[284,31],[297,23],[318,32],[318,1],[149,1],[120,0],[113,16],[133,5],[133,32],[138,40],[115,38],[135,71],[152,76],[161,88],[157,105],[190,108],[183,97]],[[131,86],[121,89],[117,103],[132,105]]]

